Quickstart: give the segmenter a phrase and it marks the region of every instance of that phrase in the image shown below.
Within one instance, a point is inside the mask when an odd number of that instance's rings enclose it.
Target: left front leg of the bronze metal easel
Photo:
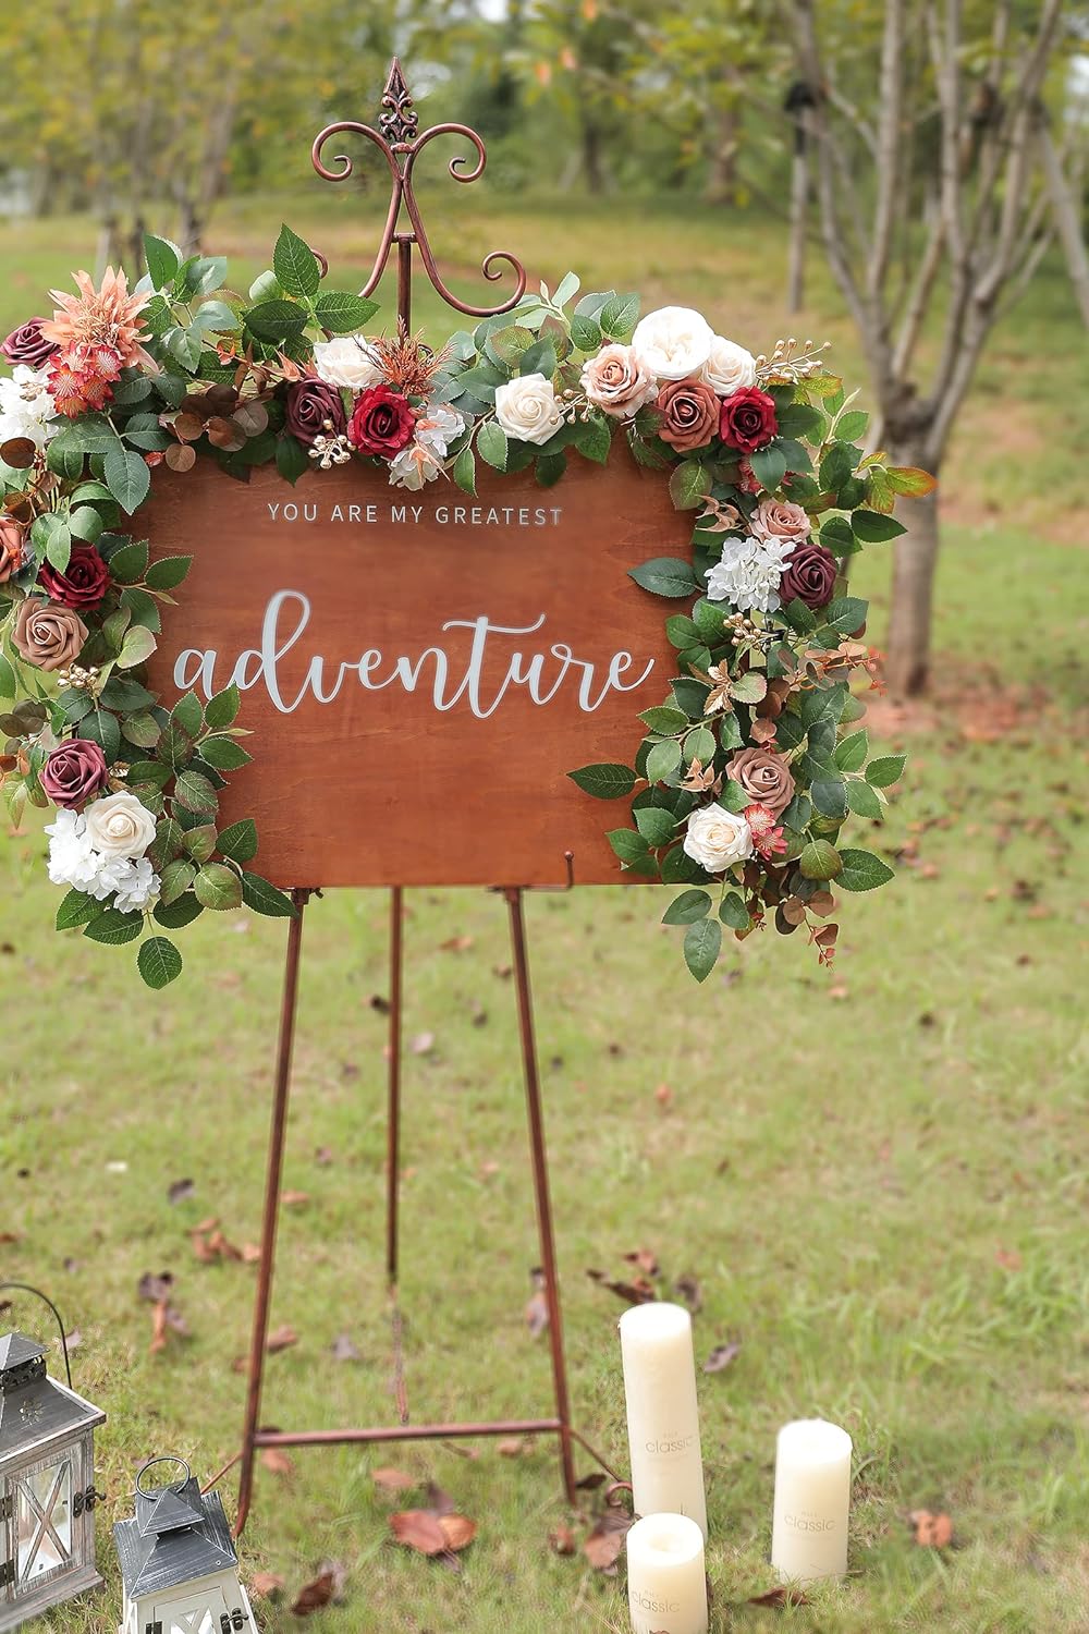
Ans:
[[[264,1172],[264,1217],[261,1224],[261,1260],[258,1263],[256,1302],[253,1307],[253,1337],[250,1340],[250,1368],[247,1387],[247,1417],[242,1438],[242,1474],[238,1479],[238,1515],[235,1538],[250,1515],[253,1498],[253,1459],[256,1456],[256,1431],[261,1417],[261,1384],[264,1379],[264,1345],[273,1301],[273,1265],[276,1260],[276,1226],[279,1221],[279,1188],[284,1170],[284,1137],[287,1134],[287,1095],[291,1090],[291,1056],[296,1038],[296,1011],[299,1005],[299,958],[302,951],[302,915],[310,899],[309,891],[292,891],[297,917],[287,930],[287,961],[284,964],[284,997],[279,1015],[279,1046],[276,1052],[276,1093],[273,1096],[273,1123],[269,1131],[268,1168]]]

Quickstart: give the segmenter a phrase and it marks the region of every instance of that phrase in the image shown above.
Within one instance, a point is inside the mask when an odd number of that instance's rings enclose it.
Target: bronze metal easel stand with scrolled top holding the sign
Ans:
[[[333,134],[353,132],[371,141],[385,157],[390,176],[390,206],[379,253],[374,261],[371,278],[362,288],[369,296],[385,270],[393,245],[397,245],[397,315],[403,332],[408,332],[411,320],[411,250],[420,250],[424,270],[434,289],[442,299],[470,317],[491,317],[508,312],[526,291],[526,270],[503,250],[485,257],[482,271],[485,278],[495,281],[503,276],[498,263],[504,261],[516,276],[514,294],[495,307],[472,307],[460,302],[442,283],[428,237],[420,216],[420,206],[413,193],[413,165],[421,149],[436,136],[465,137],[477,154],[477,163],[465,172],[464,157],[449,162],[449,173],[456,181],[475,181],[485,167],[485,147],[480,136],[462,124],[438,124],[418,134],[418,114],[411,105],[411,96],[400,64],[393,59],[389,80],[382,96],[379,129],[344,121],[328,126],[315,141],[312,158],[313,167],[327,181],[344,181],[353,173],[353,162],[344,154],[336,155],[338,170],[327,170],[322,163],[322,149]],[[407,229],[398,229],[402,209],[408,216]],[[567,884],[558,889],[570,889],[573,884],[573,858],[567,853]],[[563,1314],[560,1309],[560,1286],[555,1253],[555,1229],[552,1216],[552,1193],[549,1183],[549,1152],[545,1144],[544,1109],[540,1100],[540,1072],[537,1064],[537,1044],[534,1036],[534,1005],[529,982],[529,951],[526,938],[524,892],[531,887],[501,886],[508,917],[514,967],[514,990],[518,995],[518,1023],[522,1052],[522,1077],[526,1083],[526,1111],[529,1119],[529,1147],[532,1159],[534,1199],[537,1212],[537,1234],[540,1242],[540,1273],[544,1281],[544,1297],[549,1314],[549,1346],[552,1356],[552,1389],[555,1412],[547,1418],[503,1418],[483,1423],[411,1423],[408,1413],[408,1397],[402,1364],[402,1314],[397,1301],[397,1276],[400,1268],[400,1144],[402,1144],[402,1010],[403,1010],[403,889],[395,886],[390,892],[390,1016],[389,1016],[389,1074],[387,1074],[387,1206],[385,1206],[385,1270],[390,1288],[390,1307],[393,1317],[393,1351],[395,1351],[395,1397],[398,1423],[358,1430],[261,1430],[261,1392],[264,1382],[264,1355],[268,1342],[269,1307],[273,1294],[273,1271],[276,1260],[276,1230],[279,1222],[281,1183],[284,1165],[284,1139],[287,1131],[287,1098],[291,1090],[291,1060],[296,1034],[296,1011],[299,1000],[299,964],[302,954],[304,915],[313,887],[297,889],[292,900],[297,917],[291,922],[287,933],[287,961],[284,971],[284,995],[279,1021],[279,1046],[276,1057],[276,1087],[273,1098],[273,1121],[268,1152],[268,1170],[264,1180],[264,1224],[261,1230],[261,1260],[258,1266],[258,1289],[253,1312],[253,1338],[250,1345],[247,1410],[243,1425],[242,1451],[233,1462],[240,1464],[238,1482],[238,1515],[235,1536],[238,1536],[250,1516],[253,1502],[253,1466],[261,1448],[269,1446],[336,1446],[346,1443],[389,1443],[389,1441],[447,1441],[469,1440],[477,1436],[511,1436],[511,1435],[555,1435],[560,1449],[560,1471],[563,1492],[568,1502],[575,1502],[575,1443],[583,1446],[602,1469],[611,1476],[607,1464],[594,1453],[593,1446],[571,1425],[570,1391],[567,1377],[567,1361],[563,1353]],[[544,887],[547,889],[547,887]],[[227,1466],[229,1469],[232,1466]],[[225,1471],[222,1471],[225,1474]],[[217,1477],[219,1479],[219,1477]],[[614,1477],[616,1479],[616,1477]]]

